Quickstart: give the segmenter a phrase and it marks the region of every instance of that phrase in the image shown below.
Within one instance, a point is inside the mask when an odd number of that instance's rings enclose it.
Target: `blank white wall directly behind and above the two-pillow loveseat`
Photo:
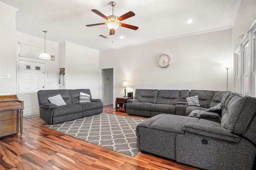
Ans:
[[[89,88],[99,98],[99,51],[66,41],[64,82],[66,89]]]

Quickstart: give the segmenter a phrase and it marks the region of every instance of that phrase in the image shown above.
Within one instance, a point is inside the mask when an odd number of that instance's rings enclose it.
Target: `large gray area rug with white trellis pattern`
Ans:
[[[136,126],[144,120],[101,113],[45,127],[133,157],[140,152]]]

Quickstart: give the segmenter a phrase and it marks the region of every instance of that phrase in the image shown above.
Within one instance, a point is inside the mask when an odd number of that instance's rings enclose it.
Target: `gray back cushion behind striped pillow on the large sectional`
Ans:
[[[191,90],[190,96],[198,95],[200,107],[209,108],[215,91],[210,90]]]

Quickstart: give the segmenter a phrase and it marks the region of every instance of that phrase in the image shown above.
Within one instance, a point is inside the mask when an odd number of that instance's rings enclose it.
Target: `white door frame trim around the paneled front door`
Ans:
[[[16,59],[16,92],[17,92],[17,96],[18,98],[20,97],[20,89],[19,89],[19,85],[20,85],[20,77],[19,77],[19,62],[20,61],[28,61],[28,62],[33,62],[33,63],[43,63],[45,64],[45,68],[44,71],[46,74],[44,74],[45,78],[44,78],[44,84],[45,84],[45,90],[47,90],[47,63],[45,60],[41,60],[41,59],[32,59],[32,58],[26,58],[26,57],[17,57]]]

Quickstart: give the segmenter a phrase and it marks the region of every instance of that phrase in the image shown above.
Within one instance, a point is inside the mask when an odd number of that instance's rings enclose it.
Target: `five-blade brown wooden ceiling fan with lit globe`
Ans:
[[[133,25],[128,25],[126,23],[121,23],[120,21],[125,20],[127,18],[130,18],[132,16],[135,16],[135,14],[130,11],[127,12],[126,14],[118,17],[114,15],[114,6],[116,5],[116,2],[111,1],[110,5],[112,6],[112,15],[110,16],[105,16],[104,14],[102,14],[101,12],[99,12],[98,10],[91,10],[92,12],[94,12],[95,14],[98,14],[99,16],[101,16],[102,18],[104,18],[107,22],[105,23],[94,23],[94,24],[90,24],[90,25],[86,25],[87,27],[91,27],[91,26],[96,26],[96,25],[108,25],[108,28],[110,29],[110,33],[109,35],[114,35],[115,34],[115,29],[118,26],[121,27],[126,27],[126,28],[130,28],[130,29],[134,29],[137,30],[139,27],[133,26]]]

